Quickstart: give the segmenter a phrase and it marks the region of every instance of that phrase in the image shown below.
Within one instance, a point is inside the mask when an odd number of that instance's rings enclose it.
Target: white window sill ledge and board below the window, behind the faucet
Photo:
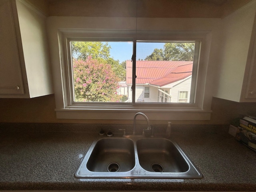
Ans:
[[[211,110],[200,109],[56,109],[56,116],[60,119],[101,119],[101,120],[132,120],[134,114],[143,112],[150,120],[210,120]]]

